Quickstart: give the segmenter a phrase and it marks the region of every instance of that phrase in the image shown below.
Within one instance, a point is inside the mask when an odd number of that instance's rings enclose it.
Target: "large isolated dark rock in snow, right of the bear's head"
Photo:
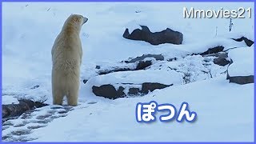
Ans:
[[[176,45],[182,44],[183,34],[178,31],[167,28],[161,32],[152,33],[147,26],[141,27],[142,30],[136,29],[131,34],[129,33],[129,30],[126,29],[124,34],[122,34],[122,37],[131,40],[149,42],[151,45],[159,45],[163,43],[172,43]]]

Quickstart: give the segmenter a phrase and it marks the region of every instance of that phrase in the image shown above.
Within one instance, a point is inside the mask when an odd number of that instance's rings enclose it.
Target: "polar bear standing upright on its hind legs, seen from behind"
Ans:
[[[82,44],[79,38],[82,25],[88,18],[71,14],[62,26],[52,47],[52,95],[53,104],[62,105],[66,96],[67,104],[78,106]]]

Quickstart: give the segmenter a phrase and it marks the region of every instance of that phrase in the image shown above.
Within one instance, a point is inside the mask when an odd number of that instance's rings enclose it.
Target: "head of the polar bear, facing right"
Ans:
[[[81,30],[82,25],[87,21],[88,18],[83,17],[80,14],[71,14],[70,17],[66,19],[63,29],[75,29],[79,32]]]

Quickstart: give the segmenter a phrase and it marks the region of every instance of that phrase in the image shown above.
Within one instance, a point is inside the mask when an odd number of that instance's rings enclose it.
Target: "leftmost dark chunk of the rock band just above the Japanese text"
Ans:
[[[124,88],[122,86],[119,86],[118,90],[115,90],[114,86],[110,84],[102,85],[99,87],[93,86],[92,89],[95,95],[104,98],[116,99],[126,96],[126,94],[123,92]]]

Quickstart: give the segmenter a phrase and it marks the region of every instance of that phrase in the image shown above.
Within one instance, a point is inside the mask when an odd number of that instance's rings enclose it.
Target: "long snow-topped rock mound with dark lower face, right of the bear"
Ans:
[[[156,57],[154,61],[145,61],[153,56]],[[162,61],[156,61],[158,57],[159,55],[144,54],[125,61],[127,64],[138,62],[138,66],[140,62],[152,62],[144,66],[143,70],[134,69],[133,65],[127,65],[126,69],[98,66],[99,69],[95,68],[98,70],[98,76],[86,80],[86,87],[95,95],[110,99],[142,96],[156,89],[214,78],[226,70],[226,67],[214,65],[216,58],[211,55],[188,55],[181,59],[174,58],[172,61],[163,60],[163,57]]]

